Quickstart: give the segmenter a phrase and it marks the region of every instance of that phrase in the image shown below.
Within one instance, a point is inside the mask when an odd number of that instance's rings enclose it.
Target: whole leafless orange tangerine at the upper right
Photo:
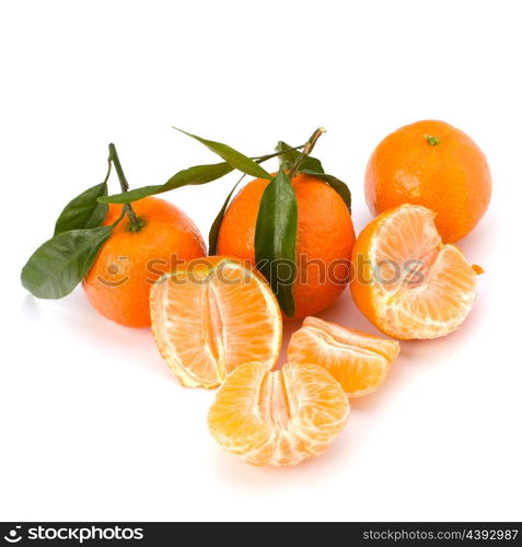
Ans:
[[[440,142],[430,146],[425,136]],[[442,241],[453,243],[486,212],[491,175],[486,156],[466,133],[444,121],[424,120],[381,141],[368,163],[364,193],[375,216],[402,203],[431,209]]]

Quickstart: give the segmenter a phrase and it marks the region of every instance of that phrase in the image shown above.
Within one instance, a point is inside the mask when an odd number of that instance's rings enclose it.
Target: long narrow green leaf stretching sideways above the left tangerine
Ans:
[[[165,184],[154,186],[143,186],[134,190],[124,191],[123,194],[114,194],[113,196],[105,196],[98,198],[102,203],[130,203],[147,196],[154,196],[155,194],[163,194],[164,191],[174,190],[182,186],[206,184],[224,175],[228,175],[234,170],[232,165],[227,162],[211,163],[209,165],[195,165],[187,170],[179,171],[174,176],[169,178]]]

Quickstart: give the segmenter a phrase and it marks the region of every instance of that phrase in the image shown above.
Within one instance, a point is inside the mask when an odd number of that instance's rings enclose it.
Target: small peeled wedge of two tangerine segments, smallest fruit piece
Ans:
[[[384,382],[399,351],[396,340],[306,317],[290,338],[288,360],[324,366],[348,397],[360,397],[374,392]]]

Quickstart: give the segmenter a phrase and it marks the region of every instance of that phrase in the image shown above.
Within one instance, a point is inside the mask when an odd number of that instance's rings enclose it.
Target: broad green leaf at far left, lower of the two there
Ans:
[[[111,226],[61,232],[39,246],[22,268],[22,284],[39,299],[61,299],[89,271]]]

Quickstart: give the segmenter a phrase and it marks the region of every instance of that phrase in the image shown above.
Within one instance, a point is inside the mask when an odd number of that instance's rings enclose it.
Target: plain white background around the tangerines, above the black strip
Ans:
[[[521,520],[518,3],[2,2],[0,519]],[[137,187],[214,161],[173,124],[253,155],[323,125],[316,153],[350,184],[359,232],[372,149],[422,118],[490,162],[489,211],[461,242],[486,270],[478,301],[457,333],[403,344],[315,461],[221,452],[213,393],[182,388],[148,330],[81,289],[44,302],[20,284],[61,207],[102,181],[109,141]],[[164,197],[206,235],[235,179]],[[349,291],[323,317],[375,331]]]

